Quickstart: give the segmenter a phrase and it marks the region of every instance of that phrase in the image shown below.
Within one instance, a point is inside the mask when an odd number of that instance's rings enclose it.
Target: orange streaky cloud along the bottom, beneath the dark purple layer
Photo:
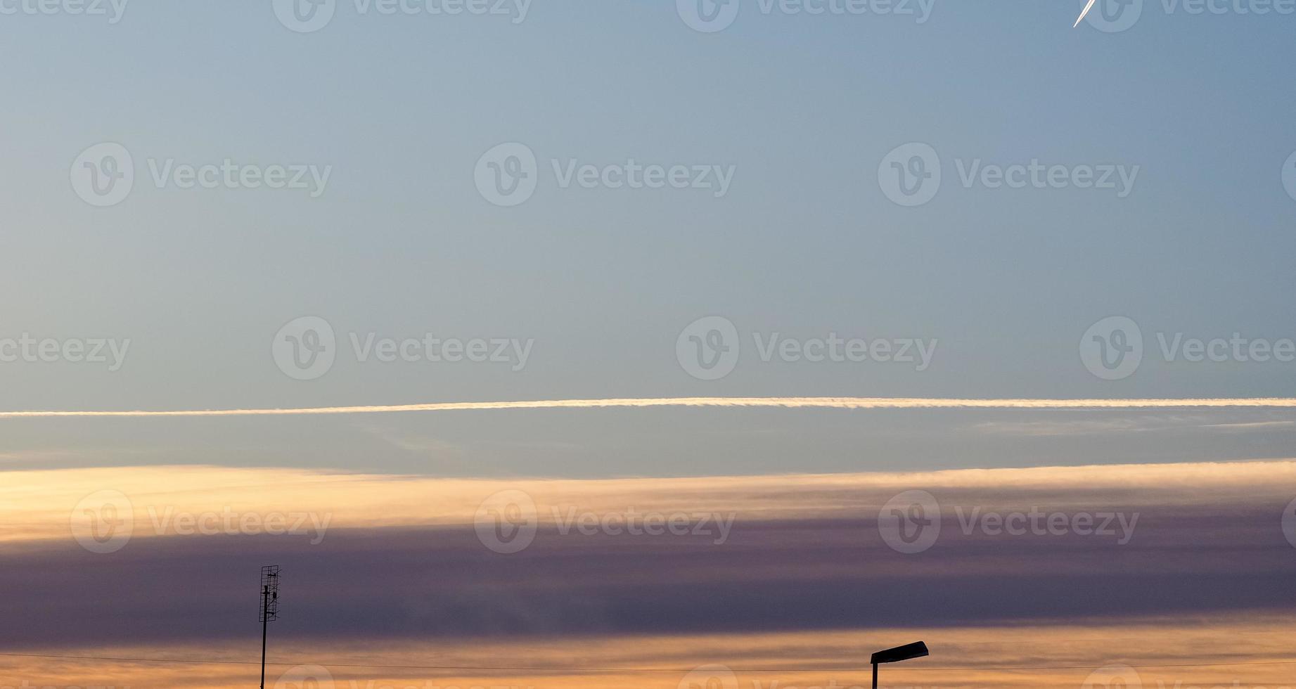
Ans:
[[[260,629],[257,628],[255,632]],[[706,635],[587,635],[515,638],[438,637],[341,641],[293,640],[272,628],[267,686],[294,664],[324,666],[334,684],[319,689],[679,689],[688,670],[722,664],[737,686],[809,689],[867,688],[867,654],[899,642],[924,640],[932,657],[886,667],[884,686],[966,689],[1076,689],[1103,664],[1142,664],[1143,686],[1291,685],[1291,666],[1165,667],[1165,663],[1227,661],[1264,663],[1288,658],[1291,620],[1282,615],[1161,616],[1122,622],[1085,619],[962,627],[881,627],[758,633],[741,629]],[[255,685],[259,638],[157,645],[115,644],[75,650],[117,658],[213,658],[245,664],[139,664],[41,658],[0,658],[4,677],[17,685],[167,689],[235,689]],[[58,651],[60,649],[51,649]],[[398,666],[372,667],[367,666]],[[1161,664],[1163,667],[1147,667]],[[442,670],[411,666],[445,666]],[[521,667],[500,671],[482,667]],[[599,668],[587,672],[534,668]],[[1036,670],[997,670],[1026,666]],[[1038,670],[1055,666],[1054,670]],[[942,668],[958,670],[942,670]],[[616,668],[632,668],[618,671]],[[354,684],[351,684],[354,683]],[[371,684],[372,683],[372,684]],[[758,684],[759,683],[759,684]],[[281,685],[279,685],[281,686]],[[730,685],[732,686],[732,685]],[[1131,685],[1133,686],[1133,685]]]

